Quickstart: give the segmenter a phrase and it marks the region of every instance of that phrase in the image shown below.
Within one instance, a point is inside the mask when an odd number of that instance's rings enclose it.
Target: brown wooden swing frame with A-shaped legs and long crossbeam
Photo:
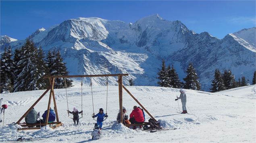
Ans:
[[[63,76],[50,76],[50,77],[44,77],[48,78],[50,80],[50,86],[46,91],[35,101],[35,103],[27,110],[27,112],[24,113],[24,115],[16,122],[16,124],[21,125],[22,127],[28,127],[28,128],[19,128],[18,130],[29,130],[29,129],[40,129],[40,127],[33,127],[33,126],[38,126],[40,125],[39,123],[35,124],[21,124],[21,120],[26,117],[26,115],[31,111],[33,107],[50,91],[50,96],[49,96],[49,101],[48,101],[48,108],[47,108],[47,114],[46,114],[46,121],[45,123],[41,123],[41,126],[46,126],[48,124],[56,124],[52,129],[55,129],[56,127],[59,127],[62,125],[62,123],[59,121],[58,118],[58,110],[57,110],[57,104],[55,101],[55,95],[54,95],[54,80],[55,78],[75,78],[75,77],[118,77],[118,90],[119,90],[119,109],[120,109],[120,117],[121,117],[121,123],[123,123],[123,89],[144,109],[146,113],[154,120],[156,119],[148,112],[148,110],[141,104],[139,101],[128,91],[128,89],[123,85],[123,76],[128,76],[129,74],[110,74],[110,75],[63,75]],[[49,113],[50,113],[50,104],[51,100],[53,99],[54,103],[54,108],[55,108],[55,113],[56,113],[56,122],[48,123],[48,118],[49,118]],[[142,124],[130,124],[130,125],[125,125],[127,127],[129,126],[139,126],[139,125],[149,125],[148,122],[144,122]]]

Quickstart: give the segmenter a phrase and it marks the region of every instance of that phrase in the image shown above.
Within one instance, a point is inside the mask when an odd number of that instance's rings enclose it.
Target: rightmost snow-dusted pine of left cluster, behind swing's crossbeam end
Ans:
[[[48,52],[47,65],[50,69],[51,76],[68,75],[66,63],[63,62],[60,51]],[[67,87],[72,87],[73,80],[66,78]],[[54,81],[54,89],[65,88],[65,80],[63,78],[56,78]]]

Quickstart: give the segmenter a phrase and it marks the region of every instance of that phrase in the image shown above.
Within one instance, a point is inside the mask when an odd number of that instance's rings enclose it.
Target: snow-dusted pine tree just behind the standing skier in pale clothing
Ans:
[[[192,90],[200,90],[201,84],[198,80],[198,76],[196,74],[196,69],[193,67],[193,64],[190,62],[189,66],[187,68],[187,77],[185,77],[183,80],[184,83],[184,89],[192,89]]]

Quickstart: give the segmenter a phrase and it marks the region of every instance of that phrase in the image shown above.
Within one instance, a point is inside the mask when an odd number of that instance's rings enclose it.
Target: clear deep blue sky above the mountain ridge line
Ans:
[[[255,1],[0,1],[0,35],[25,39],[39,28],[49,28],[77,17],[100,17],[134,23],[159,14],[180,20],[196,33],[223,38],[256,24]]]

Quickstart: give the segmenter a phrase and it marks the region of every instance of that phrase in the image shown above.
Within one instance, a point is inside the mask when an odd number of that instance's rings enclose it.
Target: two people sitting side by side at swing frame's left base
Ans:
[[[32,108],[29,113],[25,117],[26,124],[35,124],[35,123],[45,123],[46,122],[46,114],[47,110],[42,115],[43,119],[38,119],[38,114],[35,111],[34,108]],[[39,117],[40,118],[40,117]],[[50,108],[49,117],[48,117],[48,123],[54,122],[56,119],[55,112]]]

